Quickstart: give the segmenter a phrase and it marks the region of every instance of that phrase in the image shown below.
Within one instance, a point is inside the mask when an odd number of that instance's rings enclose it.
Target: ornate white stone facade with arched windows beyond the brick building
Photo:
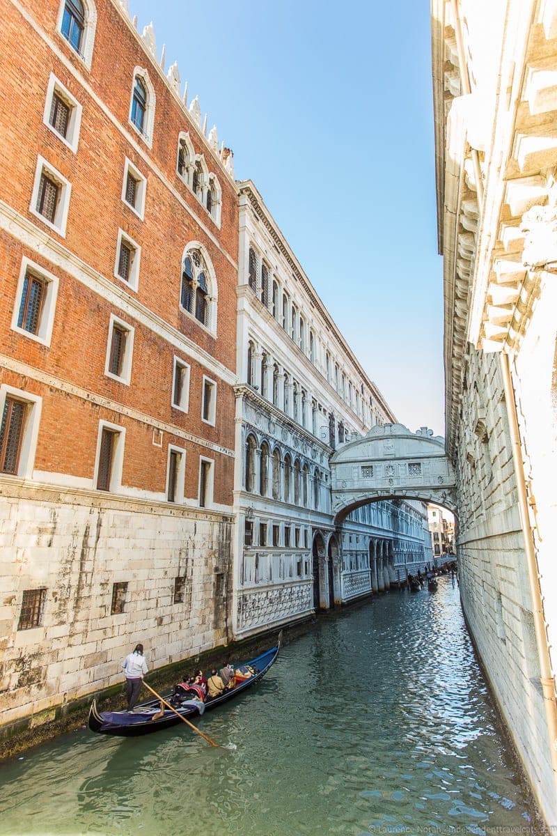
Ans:
[[[255,186],[240,191],[233,630],[242,636],[385,589],[428,557],[421,503],[377,503],[335,526],[332,451],[393,416]]]

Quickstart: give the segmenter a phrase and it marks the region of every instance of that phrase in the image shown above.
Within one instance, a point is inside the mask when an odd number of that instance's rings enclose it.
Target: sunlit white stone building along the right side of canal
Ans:
[[[557,3],[433,3],[447,451],[463,608],[557,825]]]

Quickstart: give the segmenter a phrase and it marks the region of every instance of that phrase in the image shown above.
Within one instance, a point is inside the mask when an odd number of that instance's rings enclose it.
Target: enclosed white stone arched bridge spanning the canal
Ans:
[[[374,426],[333,453],[332,511],[342,523],[354,508],[379,499],[417,499],[456,512],[453,465],[443,436],[402,424]]]

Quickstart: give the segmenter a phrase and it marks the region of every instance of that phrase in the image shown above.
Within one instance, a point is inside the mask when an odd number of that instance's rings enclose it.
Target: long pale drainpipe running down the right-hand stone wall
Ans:
[[[530,595],[532,596],[534,631],[539,658],[539,681],[544,694],[545,719],[549,731],[549,748],[551,750],[551,766],[553,768],[554,783],[557,788],[557,701],[551,674],[551,660],[549,658],[549,643],[545,630],[544,604],[539,586],[538,563],[535,555],[534,535],[529,523],[528,494],[524,479],[524,463],[520,447],[519,420],[516,413],[513,380],[510,373],[509,355],[504,351],[499,354],[500,369],[503,375],[504,400],[509,415],[510,440],[513,451],[514,473],[516,475],[516,490],[519,500],[520,523],[524,534],[524,552],[528,568]]]

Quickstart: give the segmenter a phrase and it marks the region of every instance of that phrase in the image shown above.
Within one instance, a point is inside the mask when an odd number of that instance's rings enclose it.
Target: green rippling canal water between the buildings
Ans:
[[[534,833],[450,579],[321,619],[199,725],[236,748],[82,730],[3,764],[0,833]]]

